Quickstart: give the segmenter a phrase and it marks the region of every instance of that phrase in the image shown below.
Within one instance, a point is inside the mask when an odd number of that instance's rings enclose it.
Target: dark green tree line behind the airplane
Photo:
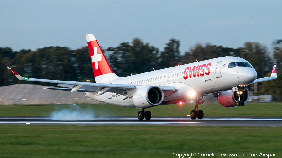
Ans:
[[[203,61],[207,59],[236,56],[246,59],[255,68],[258,78],[270,76],[273,64],[277,65],[277,74],[282,64],[282,47],[275,48],[274,57],[269,55],[267,47],[258,42],[245,42],[242,47],[229,48],[197,43],[189,51],[180,53],[180,41],[170,39],[162,51],[135,38],[130,42],[122,42],[118,47],[109,47],[105,51],[112,53],[107,58],[113,71],[120,77],[143,72]],[[17,83],[56,86],[51,83],[21,81],[8,71],[6,66],[23,77],[43,78],[51,80],[94,82],[91,59],[88,47],[72,50],[68,47],[44,47],[35,51],[22,49],[13,51],[10,47],[0,47],[0,86]],[[281,94],[281,79],[259,84],[259,94]],[[252,86],[252,85],[251,85]]]

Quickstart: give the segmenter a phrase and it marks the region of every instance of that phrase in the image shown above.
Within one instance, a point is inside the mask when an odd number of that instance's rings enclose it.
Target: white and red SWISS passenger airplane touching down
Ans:
[[[142,109],[138,119],[151,119],[146,109],[165,104],[182,104],[195,101],[191,119],[202,119],[198,110],[202,98],[213,94],[224,107],[244,106],[249,99],[246,86],[262,81],[277,79],[276,65],[270,77],[257,79],[252,65],[240,57],[219,57],[205,61],[177,65],[127,77],[118,77],[110,67],[96,38],[86,35],[96,83],[59,81],[22,77],[7,67],[19,80],[56,83],[58,87],[44,89],[84,92],[85,96],[107,104]]]

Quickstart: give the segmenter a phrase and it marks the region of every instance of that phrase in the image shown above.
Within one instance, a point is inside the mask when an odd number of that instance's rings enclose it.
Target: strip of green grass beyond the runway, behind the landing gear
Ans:
[[[195,107],[194,104],[159,105],[149,108],[152,116],[187,116]],[[95,116],[137,116],[140,109],[113,106],[108,104],[81,105],[32,105],[0,106],[0,116],[50,116],[53,111],[62,109],[91,111]],[[282,117],[282,103],[247,103],[243,107],[224,108],[220,104],[204,104],[199,109],[205,116],[235,117]]]

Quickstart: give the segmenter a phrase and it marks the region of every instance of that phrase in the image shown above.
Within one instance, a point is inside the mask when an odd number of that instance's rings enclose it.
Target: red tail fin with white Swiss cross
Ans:
[[[86,40],[96,83],[106,82],[119,78],[112,71],[112,68],[110,67],[110,64],[108,63],[94,35],[86,35]]]

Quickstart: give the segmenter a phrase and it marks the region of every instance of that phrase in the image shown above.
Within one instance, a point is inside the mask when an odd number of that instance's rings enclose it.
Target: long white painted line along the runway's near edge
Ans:
[[[81,122],[81,121],[34,121],[34,122],[0,122],[11,124],[177,124],[177,123],[209,123],[209,122]]]

